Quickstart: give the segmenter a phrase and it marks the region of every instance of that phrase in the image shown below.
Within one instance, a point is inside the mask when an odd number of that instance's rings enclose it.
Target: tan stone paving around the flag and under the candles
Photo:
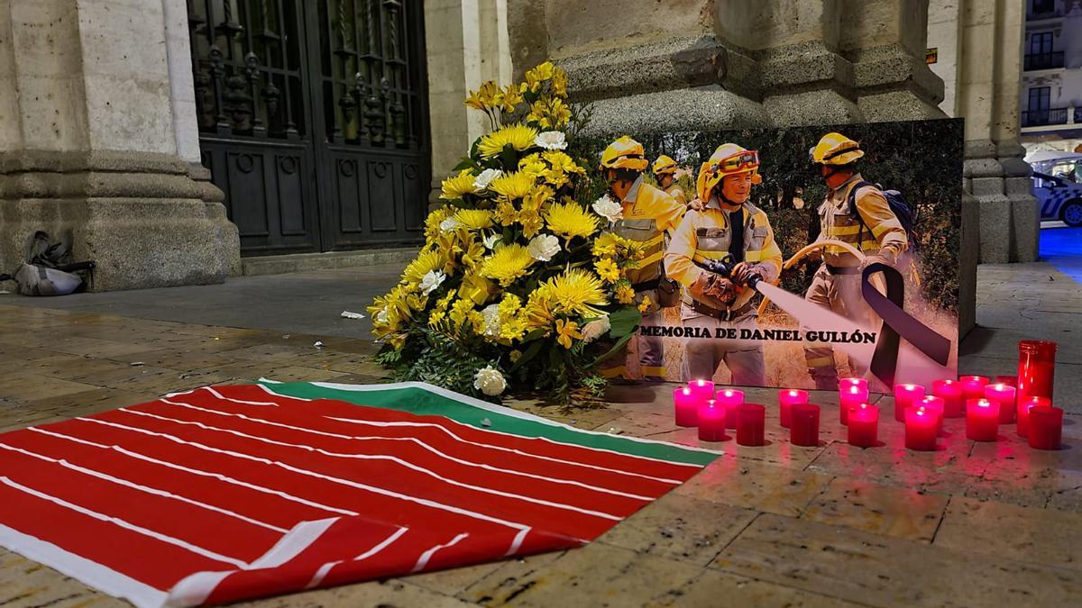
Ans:
[[[1057,340],[1061,362],[1056,374],[1057,402],[1082,411],[1078,374],[1073,373],[1082,365],[1082,346],[1071,341],[1082,299],[1080,286],[1069,276],[1071,264],[1054,260],[1051,264],[982,266],[978,308],[982,329],[963,345],[963,371],[1006,373],[1018,338]],[[312,279],[305,277],[278,281]],[[332,273],[319,275],[318,280],[338,278]],[[264,285],[260,289],[269,290],[266,286],[272,283],[241,286]],[[187,289],[196,288],[183,288]],[[183,290],[159,290],[175,293],[177,298],[171,300],[176,303],[162,301],[151,315],[167,316],[173,306],[174,316],[192,316],[187,322],[102,314],[92,308],[116,304],[101,299],[76,305],[76,299],[0,298],[0,431],[137,404],[209,383],[253,381],[261,375],[362,383],[374,382],[382,373],[367,360],[374,347],[364,339],[301,330],[286,333],[277,323],[288,322],[291,313],[283,302],[259,300],[263,296],[259,289],[251,288],[245,298],[217,295],[221,306],[240,308],[208,306],[202,318],[228,313],[248,326],[268,329],[192,322],[197,301],[185,301]],[[318,295],[313,290],[308,295]],[[273,292],[267,291],[267,296]],[[116,296],[128,299],[123,305],[138,310],[143,293]],[[232,304],[230,298],[235,298]],[[334,316],[341,312],[338,308],[360,309],[362,302],[324,304],[330,316],[319,322],[356,327]],[[275,315],[277,320],[269,318]],[[305,321],[293,320],[298,327]],[[322,347],[313,346],[317,340],[324,342]],[[540,404],[510,405],[582,428],[697,444],[694,429],[673,425],[669,389],[617,387],[610,392],[610,407],[572,413]],[[770,414],[776,415],[774,395],[770,389],[748,391],[749,400],[769,404]],[[586,547],[246,606],[1044,606],[1077,602],[1082,594],[1082,415],[1067,417],[1067,449],[1058,452],[1029,449],[1013,427],[1005,427],[995,444],[975,444],[965,439],[961,420],[948,421],[950,436],[937,452],[902,449],[900,425],[887,420],[880,427],[885,446],[862,450],[845,442],[834,396],[822,393],[815,399],[823,406],[818,447],[789,445],[776,418],[770,418],[768,446],[713,445],[726,451],[723,458]],[[884,419],[889,419],[890,397],[878,402]],[[123,605],[0,550],[3,608]]]

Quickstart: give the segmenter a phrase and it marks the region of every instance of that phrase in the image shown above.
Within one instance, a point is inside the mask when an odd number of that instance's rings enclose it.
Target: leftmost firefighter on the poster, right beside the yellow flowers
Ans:
[[[679,287],[664,275],[662,256],[667,236],[671,236],[686,207],[659,188],[643,182],[649,167],[643,145],[624,135],[609,144],[602,153],[598,170],[609,185],[608,195],[620,202],[622,217],[611,230],[617,235],[644,244],[645,257],[638,267],[628,272],[635,290],[635,304],[649,299],[643,314],[642,327],[662,325],[662,307],[679,303]],[[664,349],[660,335],[639,335],[638,362],[643,379],[665,379]],[[602,364],[606,378],[630,378],[625,369],[625,355],[615,355]]]

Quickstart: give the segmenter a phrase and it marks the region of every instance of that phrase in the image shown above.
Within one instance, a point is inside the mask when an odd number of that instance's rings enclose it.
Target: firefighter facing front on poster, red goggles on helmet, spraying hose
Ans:
[[[762,210],[749,201],[758,175],[758,153],[723,144],[699,169],[696,190],[701,209],[684,215],[665,253],[665,272],[685,288],[681,316],[684,327],[705,330],[755,329],[753,276],[775,281],[781,272],[781,250]],[[737,264],[724,277],[699,266],[731,254]],[[704,333],[704,332],[700,332]],[[688,338],[684,353],[687,379],[710,379],[725,362],[734,384],[766,384],[763,345],[757,341]]]

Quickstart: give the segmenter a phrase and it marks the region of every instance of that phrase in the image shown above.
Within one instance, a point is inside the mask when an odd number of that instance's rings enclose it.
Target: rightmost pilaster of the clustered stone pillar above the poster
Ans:
[[[842,54],[869,122],[941,118],[942,81],[924,61],[928,0],[842,0]]]

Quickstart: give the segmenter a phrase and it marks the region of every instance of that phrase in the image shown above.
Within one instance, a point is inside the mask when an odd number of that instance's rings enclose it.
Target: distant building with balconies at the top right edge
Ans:
[[[1082,0],[1027,0],[1021,141],[1029,150],[1082,144]]]

